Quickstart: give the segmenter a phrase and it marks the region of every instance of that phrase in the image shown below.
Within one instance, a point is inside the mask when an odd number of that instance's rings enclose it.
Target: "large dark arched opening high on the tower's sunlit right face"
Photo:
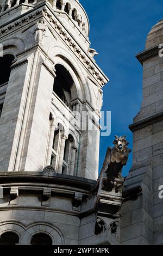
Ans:
[[[73,79],[65,69],[64,66],[57,64],[55,65],[56,77],[54,80],[53,92],[58,95],[62,102],[72,110],[71,106],[71,88],[73,86]]]

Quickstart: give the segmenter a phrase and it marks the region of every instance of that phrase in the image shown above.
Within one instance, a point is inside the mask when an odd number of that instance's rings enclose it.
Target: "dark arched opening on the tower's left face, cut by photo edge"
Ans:
[[[14,56],[12,56],[11,54],[7,54],[3,57],[0,57],[0,67],[1,67],[0,86],[9,81],[10,72],[11,72],[10,66],[13,60],[14,60]]]

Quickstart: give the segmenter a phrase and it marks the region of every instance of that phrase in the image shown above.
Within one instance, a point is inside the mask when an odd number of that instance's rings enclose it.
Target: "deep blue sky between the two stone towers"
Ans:
[[[96,62],[109,77],[104,88],[103,111],[111,111],[111,136],[101,137],[99,169],[114,135],[126,135],[132,148],[128,125],[140,110],[142,66],[135,58],[145,50],[148,32],[163,19],[162,0],[80,0],[90,20],[91,47],[99,53]],[[132,154],[123,175],[127,175]]]

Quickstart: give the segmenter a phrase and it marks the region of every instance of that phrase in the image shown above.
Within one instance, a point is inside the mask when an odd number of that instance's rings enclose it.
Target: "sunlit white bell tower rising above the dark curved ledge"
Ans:
[[[77,0],[0,4],[1,172],[51,166],[58,174],[97,180],[108,78],[93,58],[85,10]]]

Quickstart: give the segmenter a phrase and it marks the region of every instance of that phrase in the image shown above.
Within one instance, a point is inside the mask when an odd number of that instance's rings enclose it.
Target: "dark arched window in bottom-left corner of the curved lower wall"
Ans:
[[[14,232],[5,232],[0,237],[0,245],[16,245],[18,242],[18,235]]]

